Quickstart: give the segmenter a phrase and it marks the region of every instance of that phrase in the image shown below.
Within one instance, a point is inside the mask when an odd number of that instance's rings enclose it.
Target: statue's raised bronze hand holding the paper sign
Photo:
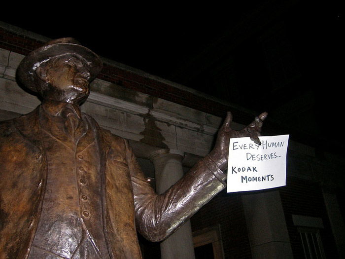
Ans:
[[[209,157],[217,164],[221,170],[227,169],[229,157],[229,144],[231,138],[250,137],[256,144],[261,145],[258,138],[261,132],[263,121],[267,117],[267,112],[261,113],[255,117],[254,121],[242,130],[233,130],[230,128],[233,116],[229,111],[223,125],[218,131],[218,136],[214,148],[209,153]]]

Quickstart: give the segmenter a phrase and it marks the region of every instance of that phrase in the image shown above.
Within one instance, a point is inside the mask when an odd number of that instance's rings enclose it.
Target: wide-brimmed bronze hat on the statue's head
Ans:
[[[18,79],[25,87],[37,92],[34,77],[36,68],[51,58],[65,54],[75,54],[88,64],[91,76],[90,81],[102,70],[103,63],[97,54],[80,45],[76,39],[66,37],[48,41],[42,47],[35,49],[24,57],[17,69]]]

